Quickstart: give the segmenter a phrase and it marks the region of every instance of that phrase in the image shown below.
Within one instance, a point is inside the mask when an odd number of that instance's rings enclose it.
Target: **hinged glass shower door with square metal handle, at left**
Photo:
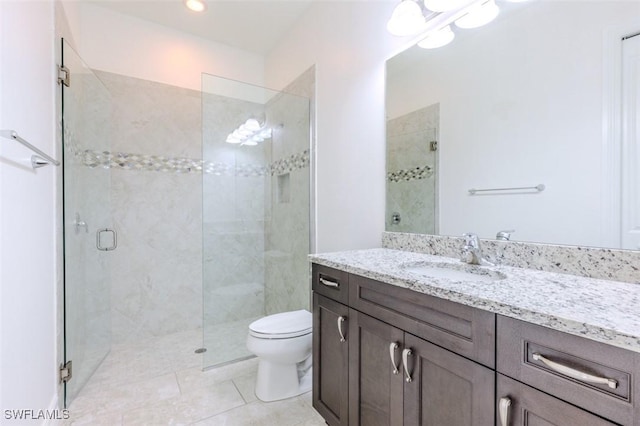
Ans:
[[[62,90],[64,362],[72,362],[65,406],[108,354],[111,102],[105,86],[62,40],[69,85]]]

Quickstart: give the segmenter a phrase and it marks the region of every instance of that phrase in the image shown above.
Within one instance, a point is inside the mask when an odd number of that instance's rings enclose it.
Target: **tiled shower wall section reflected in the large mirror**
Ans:
[[[440,105],[387,121],[387,207],[389,232],[437,231],[437,155],[430,142],[439,138]],[[398,214],[400,222],[394,222]]]

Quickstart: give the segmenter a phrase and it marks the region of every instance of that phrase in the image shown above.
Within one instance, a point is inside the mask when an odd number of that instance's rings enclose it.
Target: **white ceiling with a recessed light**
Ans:
[[[206,0],[207,11],[182,0],[85,0],[238,49],[267,54],[314,0]],[[317,1],[317,0],[315,0]]]

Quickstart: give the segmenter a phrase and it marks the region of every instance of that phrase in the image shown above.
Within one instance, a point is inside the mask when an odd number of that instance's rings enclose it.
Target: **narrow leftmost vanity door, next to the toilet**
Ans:
[[[313,408],[330,426],[349,424],[348,311],[313,294]]]

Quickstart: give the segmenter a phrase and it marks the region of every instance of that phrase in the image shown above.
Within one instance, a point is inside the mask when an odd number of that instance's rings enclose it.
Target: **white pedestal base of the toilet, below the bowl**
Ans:
[[[299,378],[296,364],[260,360],[255,393],[264,402],[292,398],[311,390],[312,376],[311,368]]]

